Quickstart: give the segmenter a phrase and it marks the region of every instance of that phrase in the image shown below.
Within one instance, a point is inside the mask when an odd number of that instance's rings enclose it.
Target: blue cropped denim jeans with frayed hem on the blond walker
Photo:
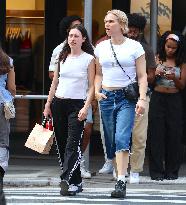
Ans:
[[[107,96],[99,101],[106,152],[108,159],[113,159],[116,152],[130,149],[136,101],[127,100],[122,89],[101,92]]]

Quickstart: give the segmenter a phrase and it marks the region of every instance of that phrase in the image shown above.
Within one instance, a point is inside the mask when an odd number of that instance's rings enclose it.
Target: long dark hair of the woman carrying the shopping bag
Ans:
[[[93,46],[90,43],[87,30],[83,27],[83,25],[74,25],[74,26],[72,26],[68,31],[68,35],[69,35],[69,32],[70,32],[71,29],[77,29],[81,32],[83,38],[85,38],[85,41],[82,43],[81,49],[84,52],[94,56]],[[70,54],[70,53],[71,53],[71,49],[70,49],[70,46],[68,45],[68,36],[67,36],[64,47],[63,47],[61,53],[59,54],[59,62],[63,61],[63,63],[64,63],[67,56],[68,56],[68,54]]]

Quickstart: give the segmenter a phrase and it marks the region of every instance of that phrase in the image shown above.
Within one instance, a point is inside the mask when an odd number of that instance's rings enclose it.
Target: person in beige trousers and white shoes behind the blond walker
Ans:
[[[155,55],[151,47],[146,43],[144,39],[146,18],[136,13],[128,14],[127,17],[129,27],[127,37],[141,43],[145,51],[147,80],[149,85],[152,85],[155,78],[156,62]],[[147,95],[144,115],[135,116],[134,127],[132,131],[132,154],[130,156],[130,183],[139,183],[139,173],[143,171],[147,140],[149,101],[150,98],[149,95]]]

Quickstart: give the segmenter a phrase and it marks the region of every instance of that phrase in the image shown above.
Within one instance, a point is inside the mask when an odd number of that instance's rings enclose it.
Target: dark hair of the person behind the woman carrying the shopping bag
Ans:
[[[59,23],[59,34],[61,36],[61,40],[64,41],[67,37],[68,29],[70,28],[73,21],[79,21],[82,23],[82,19],[80,16],[72,15],[64,17]]]

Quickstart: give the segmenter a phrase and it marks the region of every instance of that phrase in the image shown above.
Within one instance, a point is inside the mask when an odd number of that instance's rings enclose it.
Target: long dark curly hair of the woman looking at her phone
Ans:
[[[162,62],[166,61],[166,52],[165,52],[165,43],[167,41],[167,37],[169,34],[175,34],[179,37],[179,41],[177,41],[177,50],[175,53],[175,64],[176,66],[180,66],[186,61],[186,46],[184,36],[177,31],[166,31],[159,40],[158,45],[158,57]]]

